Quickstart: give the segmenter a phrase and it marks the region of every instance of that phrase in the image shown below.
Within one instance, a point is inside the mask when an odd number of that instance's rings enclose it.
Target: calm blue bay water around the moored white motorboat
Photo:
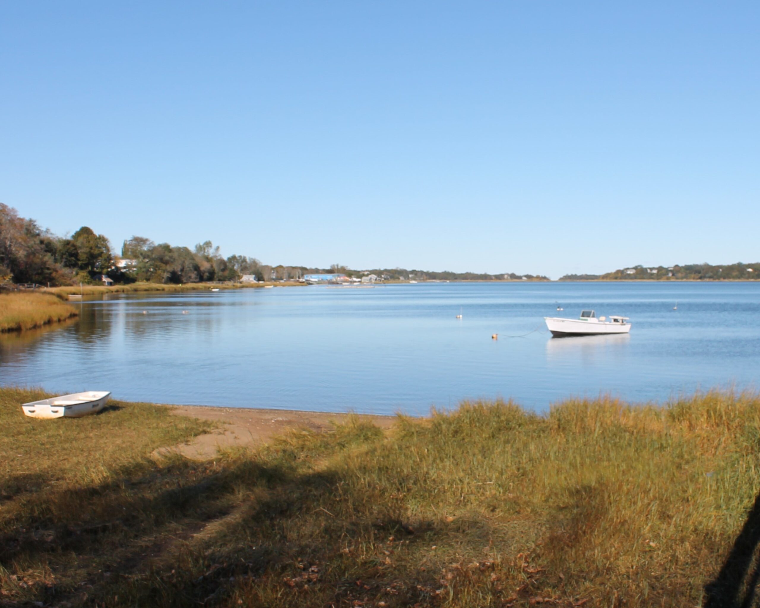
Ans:
[[[665,400],[697,388],[754,388],[760,373],[755,283],[315,286],[76,306],[81,318],[70,325],[0,340],[2,384],[110,390],[130,401],[424,415],[467,397],[514,397],[539,411],[600,392]],[[631,334],[546,332],[543,316],[584,308],[630,317]]]

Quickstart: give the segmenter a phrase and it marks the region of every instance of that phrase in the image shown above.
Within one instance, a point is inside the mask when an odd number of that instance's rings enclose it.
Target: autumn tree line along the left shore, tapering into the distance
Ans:
[[[330,268],[271,266],[257,258],[230,255],[224,258],[211,241],[195,248],[156,243],[144,236],[132,236],[122,244],[120,255],[109,239],[89,226],[71,236],[56,236],[13,207],[0,203],[0,283],[38,283],[58,286],[100,283],[109,277],[116,283],[198,283],[240,280],[301,280],[305,274],[345,274],[363,277],[375,274],[382,280],[548,280],[533,274],[483,274],[473,272],[420,271],[405,268],[378,268],[357,271],[343,264]]]

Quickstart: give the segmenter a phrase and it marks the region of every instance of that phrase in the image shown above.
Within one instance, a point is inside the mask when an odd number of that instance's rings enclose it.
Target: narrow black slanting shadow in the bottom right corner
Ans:
[[[755,605],[760,581],[760,559],[755,551],[760,543],[760,493],[747,515],[739,536],[714,581],[705,586],[705,608],[749,608]],[[752,565],[754,563],[754,568]],[[747,576],[750,568],[752,573]]]

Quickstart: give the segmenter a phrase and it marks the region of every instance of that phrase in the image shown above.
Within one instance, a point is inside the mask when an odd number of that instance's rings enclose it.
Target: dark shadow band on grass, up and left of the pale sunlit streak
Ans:
[[[152,558],[173,560],[177,540],[230,513],[240,486],[277,488],[295,483],[292,478],[290,470],[251,461],[221,467],[177,461],[137,475],[124,470],[114,480],[78,489],[40,489],[42,478],[16,476],[6,480],[3,493],[26,496],[0,534],[0,572],[27,572],[14,597],[21,602],[72,600],[78,587],[88,588],[92,598],[112,586],[104,572],[130,577],[153,568]],[[47,568],[55,586],[42,584]],[[209,581],[199,586],[207,591]]]

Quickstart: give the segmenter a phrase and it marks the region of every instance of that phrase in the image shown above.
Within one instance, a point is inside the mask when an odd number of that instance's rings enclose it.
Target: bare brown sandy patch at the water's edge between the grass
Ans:
[[[180,405],[173,409],[177,416],[192,416],[201,420],[214,420],[222,423],[222,428],[205,435],[198,435],[192,441],[166,450],[179,451],[186,458],[206,460],[214,458],[217,448],[233,445],[261,445],[270,442],[277,435],[291,429],[306,428],[315,432],[331,429],[331,422],[340,423],[347,414],[302,412],[296,410],[253,410],[240,407],[203,407],[197,405]],[[366,416],[381,429],[388,429],[394,422],[394,416]]]

